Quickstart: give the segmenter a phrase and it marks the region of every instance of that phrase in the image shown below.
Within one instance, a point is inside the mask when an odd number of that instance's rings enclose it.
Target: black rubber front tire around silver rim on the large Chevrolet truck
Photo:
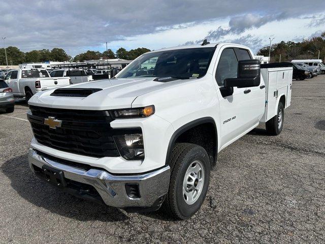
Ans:
[[[194,161],[200,162],[203,166],[204,174],[200,173],[200,175],[201,177],[204,175],[204,179],[202,179],[203,186],[201,188],[201,193],[198,195],[196,201],[192,204],[188,204],[185,201],[185,194],[183,194],[183,181],[190,166],[196,165]],[[206,150],[199,145],[177,143],[172,151],[170,167],[170,186],[162,209],[166,214],[175,219],[185,220],[193,216],[200,209],[207,194],[210,179],[209,156]],[[195,182],[197,182],[198,186],[197,180],[193,180],[193,186],[195,186]]]

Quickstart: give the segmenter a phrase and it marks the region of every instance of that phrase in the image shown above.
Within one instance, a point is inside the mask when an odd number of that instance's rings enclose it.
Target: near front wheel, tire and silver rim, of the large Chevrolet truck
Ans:
[[[196,144],[177,143],[170,162],[171,180],[163,209],[185,220],[201,207],[209,187],[210,161],[206,150]]]

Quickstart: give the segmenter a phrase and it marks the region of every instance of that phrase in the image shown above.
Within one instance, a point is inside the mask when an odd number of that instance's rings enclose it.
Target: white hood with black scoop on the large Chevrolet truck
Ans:
[[[29,101],[29,105],[50,107],[50,108],[69,108],[85,110],[108,110],[119,108],[130,108],[132,102],[140,95],[149,93],[153,90],[178,84],[184,80],[172,82],[153,81],[150,78],[114,78],[107,80],[90,81],[76,85],[64,87],[69,88],[100,88],[99,92],[93,93],[85,98],[79,97],[57,97],[50,96],[54,89],[45,90],[37,93]],[[149,104],[148,104],[149,105]]]

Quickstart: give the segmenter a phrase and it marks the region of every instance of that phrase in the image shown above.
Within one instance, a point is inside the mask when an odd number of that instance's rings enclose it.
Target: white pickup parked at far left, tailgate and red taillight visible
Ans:
[[[71,84],[69,77],[51,78],[46,69],[11,70],[5,81],[12,88],[15,98],[25,97],[26,101],[42,90]]]

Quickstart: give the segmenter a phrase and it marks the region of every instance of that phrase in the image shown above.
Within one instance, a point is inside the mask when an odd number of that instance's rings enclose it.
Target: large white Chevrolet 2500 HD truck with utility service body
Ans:
[[[148,62],[150,74],[137,72]],[[292,75],[292,67],[261,69],[238,44],[147,52],[113,79],[32,97],[30,169],[84,199],[133,211],[162,206],[187,219],[221,149],[261,122],[281,132]]]

